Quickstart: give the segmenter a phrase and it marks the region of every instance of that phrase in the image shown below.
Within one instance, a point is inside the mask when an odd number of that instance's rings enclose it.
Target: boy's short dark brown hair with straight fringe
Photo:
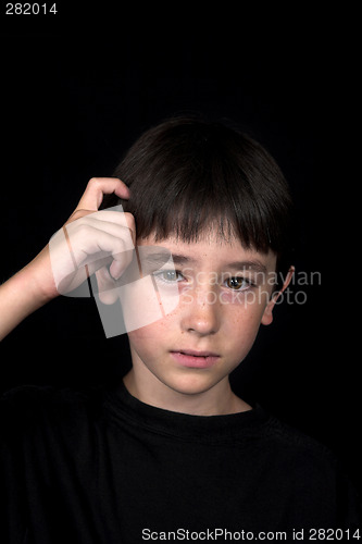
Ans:
[[[137,237],[176,236],[196,242],[216,227],[247,249],[272,250],[287,272],[291,199],[271,154],[249,136],[221,123],[175,118],[147,131],[114,175],[130,188],[122,201],[136,220]],[[104,198],[103,208],[120,203]]]

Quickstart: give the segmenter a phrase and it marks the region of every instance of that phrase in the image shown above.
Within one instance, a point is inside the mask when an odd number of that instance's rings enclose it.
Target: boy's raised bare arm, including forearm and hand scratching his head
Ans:
[[[103,196],[115,193],[123,199],[129,198],[128,187],[117,178],[95,177],[89,181],[75,211],[65,223],[72,223],[72,259],[83,264],[92,254],[104,255],[110,263],[110,272],[117,276],[126,265],[122,259],[124,240],[129,238],[135,242],[135,223],[129,213],[124,214],[121,222],[115,212],[99,211]],[[88,215],[91,214],[91,218]],[[127,228],[125,228],[125,221]],[[60,244],[55,248],[59,262],[68,260],[70,248]],[[64,258],[63,258],[64,256]],[[90,259],[92,261],[92,259]],[[97,260],[100,267],[101,259]],[[96,263],[89,264],[89,273],[97,270]],[[51,265],[49,244],[15,275],[0,286],[0,339],[3,339],[27,316],[49,302],[59,295],[59,285],[54,279]],[[62,271],[63,273],[63,271]],[[63,273],[66,276],[66,271]],[[66,279],[64,280],[66,283]],[[83,274],[70,274],[68,283],[75,288],[84,281]],[[64,282],[62,289],[66,288]]]

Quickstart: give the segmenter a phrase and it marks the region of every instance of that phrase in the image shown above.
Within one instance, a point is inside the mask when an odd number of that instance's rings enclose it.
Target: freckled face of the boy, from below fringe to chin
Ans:
[[[217,387],[246,357],[260,324],[272,321],[275,255],[214,233],[197,243],[149,237],[138,245],[172,254],[174,270],[163,267],[154,281],[160,292],[178,294],[171,312],[128,333],[139,384],[186,395]]]

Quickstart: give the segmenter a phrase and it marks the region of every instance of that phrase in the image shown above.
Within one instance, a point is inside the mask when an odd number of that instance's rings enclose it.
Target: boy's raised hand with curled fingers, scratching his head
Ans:
[[[115,208],[97,211],[103,195],[113,191],[122,198],[129,196],[120,180],[91,180],[68,221],[51,238],[49,255],[58,293],[67,294],[100,269],[99,290],[112,288],[129,264],[136,242],[133,215]]]

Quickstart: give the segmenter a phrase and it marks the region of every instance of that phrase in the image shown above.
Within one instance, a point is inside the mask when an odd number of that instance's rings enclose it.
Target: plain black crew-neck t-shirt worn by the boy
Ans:
[[[200,417],[148,406],[123,384],[21,387],[2,399],[1,456],[3,543],[229,542],[277,532],[308,542],[314,530],[358,542],[358,497],[334,456],[261,407]]]

